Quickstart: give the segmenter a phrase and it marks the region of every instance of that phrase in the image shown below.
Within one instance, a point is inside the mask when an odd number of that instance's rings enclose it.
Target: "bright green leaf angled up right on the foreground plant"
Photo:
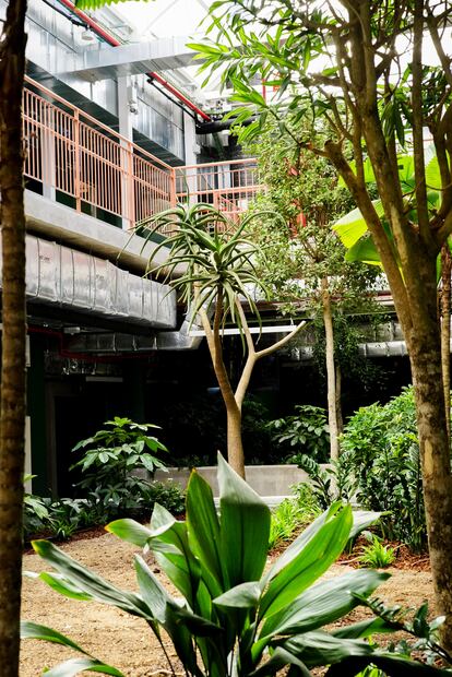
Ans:
[[[343,551],[353,524],[352,508],[335,506],[321,516],[324,520],[319,523],[320,527],[308,527],[301,534],[305,538],[299,541],[301,547],[294,559],[270,581],[260,606],[261,617],[276,614],[292,604]]]

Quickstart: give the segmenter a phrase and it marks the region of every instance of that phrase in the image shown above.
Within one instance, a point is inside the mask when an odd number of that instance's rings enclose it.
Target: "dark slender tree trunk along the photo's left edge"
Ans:
[[[2,367],[0,408],[0,675],[19,675],[25,430],[25,216],[22,88],[26,1],[10,0],[0,43]]]

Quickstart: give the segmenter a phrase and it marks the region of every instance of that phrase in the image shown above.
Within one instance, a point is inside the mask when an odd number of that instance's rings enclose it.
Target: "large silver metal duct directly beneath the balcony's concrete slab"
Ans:
[[[176,326],[176,294],[168,285],[31,235],[26,237],[26,296],[150,328]]]

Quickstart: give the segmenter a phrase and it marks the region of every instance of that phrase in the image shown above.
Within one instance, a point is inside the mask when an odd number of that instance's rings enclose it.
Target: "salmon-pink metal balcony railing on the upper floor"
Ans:
[[[177,201],[237,223],[260,189],[253,159],[170,167],[29,78],[23,123],[28,187],[127,229]]]

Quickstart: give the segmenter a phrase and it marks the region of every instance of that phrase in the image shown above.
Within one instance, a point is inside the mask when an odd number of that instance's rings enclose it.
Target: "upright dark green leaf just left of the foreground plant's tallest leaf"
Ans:
[[[219,522],[211,486],[195,471],[187,488],[187,528],[190,548],[203,567],[212,597],[216,597],[224,591]]]

